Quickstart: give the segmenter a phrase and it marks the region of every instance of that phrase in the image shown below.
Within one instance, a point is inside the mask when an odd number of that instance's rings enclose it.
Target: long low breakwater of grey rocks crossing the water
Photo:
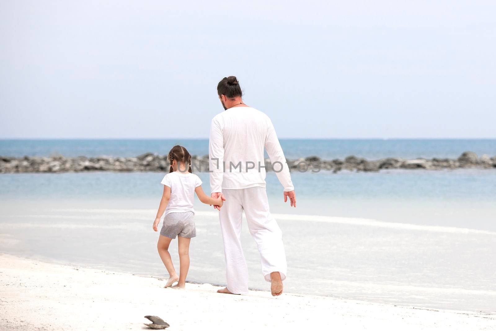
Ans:
[[[265,160],[266,170],[273,171],[270,160]],[[193,156],[191,167],[193,172],[208,172],[208,155]],[[496,156],[478,156],[474,152],[464,152],[457,159],[402,159],[389,157],[379,160],[367,160],[356,156],[345,159],[322,160],[317,156],[287,160],[292,171],[319,172],[341,170],[349,171],[380,171],[382,169],[458,169],[480,168],[496,169]],[[0,173],[63,173],[85,171],[114,171],[114,172],[164,172],[169,171],[170,164],[167,155],[145,153],[136,157],[8,157],[0,156]],[[236,169],[236,168],[235,168]],[[275,171],[280,165],[274,164]],[[239,168],[234,170],[239,171]]]

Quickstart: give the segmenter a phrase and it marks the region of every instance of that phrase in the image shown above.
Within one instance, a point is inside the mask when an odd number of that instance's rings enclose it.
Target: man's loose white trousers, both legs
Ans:
[[[219,212],[224,254],[226,255],[227,288],[231,293],[248,292],[248,267],[241,248],[241,222],[243,210],[248,229],[256,242],[262,262],[262,274],[266,281],[270,273],[279,271],[286,278],[286,254],[282,232],[269,212],[267,193],[263,187],[248,189],[222,189],[226,198]]]

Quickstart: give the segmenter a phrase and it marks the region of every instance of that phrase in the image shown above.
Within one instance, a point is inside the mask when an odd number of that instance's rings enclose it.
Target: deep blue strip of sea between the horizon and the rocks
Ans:
[[[137,156],[145,152],[167,154],[175,144],[192,155],[208,154],[208,139],[3,139],[4,156]],[[323,159],[356,155],[369,159],[457,158],[464,151],[496,155],[496,139],[281,139],[287,158],[311,155]]]

